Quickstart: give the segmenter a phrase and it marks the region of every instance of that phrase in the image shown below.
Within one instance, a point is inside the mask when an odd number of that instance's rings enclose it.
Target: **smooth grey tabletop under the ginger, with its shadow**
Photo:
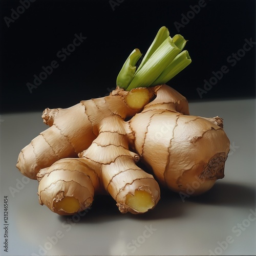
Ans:
[[[156,208],[144,215],[121,214],[110,196],[98,196],[73,222],[39,205],[37,181],[28,181],[15,167],[20,150],[47,129],[41,112],[1,115],[0,254],[255,255],[255,99],[189,106],[191,115],[224,119],[231,142],[225,177],[185,202],[162,191]],[[3,244],[5,196],[8,252]]]

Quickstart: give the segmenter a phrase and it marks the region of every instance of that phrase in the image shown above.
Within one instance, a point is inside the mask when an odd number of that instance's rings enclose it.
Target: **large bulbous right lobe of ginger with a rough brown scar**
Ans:
[[[162,185],[185,193],[200,183],[194,195],[202,194],[224,177],[229,140],[218,118],[179,113],[177,109],[188,112],[186,101],[179,100],[179,93],[169,97],[168,91],[166,86],[159,88],[156,99],[130,120],[135,150]],[[162,103],[168,100],[173,103]]]

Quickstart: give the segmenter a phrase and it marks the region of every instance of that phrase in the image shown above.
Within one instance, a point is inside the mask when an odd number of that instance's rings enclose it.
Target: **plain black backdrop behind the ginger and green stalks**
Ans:
[[[109,94],[127,56],[135,48],[145,53],[162,26],[188,40],[192,63],[168,84],[189,101],[255,97],[256,45],[236,65],[227,61],[245,39],[256,41],[255,1],[205,0],[178,31],[175,22],[182,24],[190,6],[202,1],[113,0],[111,6],[109,0],[36,0],[8,28],[5,17],[11,18],[21,2],[2,0],[1,113],[67,108]],[[80,33],[87,39],[61,61],[57,52]],[[59,67],[30,93],[26,84],[53,60]],[[229,71],[200,97],[197,88],[224,65]]]

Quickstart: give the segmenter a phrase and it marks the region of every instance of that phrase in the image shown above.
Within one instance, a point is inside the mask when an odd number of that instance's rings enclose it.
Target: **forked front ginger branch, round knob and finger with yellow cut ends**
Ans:
[[[121,117],[105,117],[99,124],[98,137],[79,154],[79,159],[61,159],[40,170],[37,174],[40,204],[46,204],[57,214],[69,215],[90,207],[95,193],[107,192],[122,213],[138,214],[153,209],[160,199],[159,185],[152,175],[136,165],[139,156],[129,150],[125,128],[129,126]],[[73,196],[71,186],[74,186]]]

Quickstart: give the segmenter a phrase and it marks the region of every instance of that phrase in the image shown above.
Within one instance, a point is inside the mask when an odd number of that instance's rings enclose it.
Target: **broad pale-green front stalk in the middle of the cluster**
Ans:
[[[149,87],[180,52],[172,38],[167,37],[135,74],[126,91],[137,87]]]

